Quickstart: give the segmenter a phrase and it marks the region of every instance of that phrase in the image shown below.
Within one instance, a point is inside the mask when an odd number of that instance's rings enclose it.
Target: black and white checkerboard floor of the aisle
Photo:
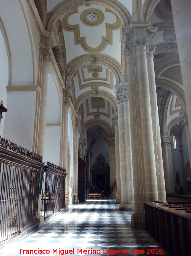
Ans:
[[[131,228],[133,212],[119,211],[118,207],[115,200],[106,198],[71,205],[55,221],[20,239],[0,255],[31,255],[26,251],[19,254],[19,250],[39,248],[50,253],[33,255],[76,256],[87,254],[84,250],[92,250],[89,255],[117,256],[123,253],[137,256],[150,252],[150,255],[168,256],[145,230]],[[67,250],[72,250],[71,254],[69,251],[67,254]]]

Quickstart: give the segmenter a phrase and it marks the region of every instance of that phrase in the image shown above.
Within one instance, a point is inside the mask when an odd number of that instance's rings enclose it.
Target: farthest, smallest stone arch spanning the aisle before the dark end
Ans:
[[[108,124],[108,122],[106,122],[105,120],[102,119],[91,119],[87,122],[85,122],[83,129],[82,129],[82,134],[84,136],[86,130],[91,127],[91,126],[101,126],[103,127],[107,134],[108,134],[108,138],[113,137],[113,130],[112,127]]]

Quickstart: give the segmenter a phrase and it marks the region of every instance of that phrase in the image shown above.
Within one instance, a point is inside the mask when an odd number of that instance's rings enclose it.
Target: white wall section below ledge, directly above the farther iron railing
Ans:
[[[44,160],[56,165],[60,163],[60,134],[60,126],[46,127]]]

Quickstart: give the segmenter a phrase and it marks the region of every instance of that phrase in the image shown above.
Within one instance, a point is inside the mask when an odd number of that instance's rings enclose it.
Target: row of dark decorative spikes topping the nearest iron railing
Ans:
[[[42,157],[40,155],[32,153],[31,151],[24,149],[24,147],[17,145],[15,142],[7,140],[1,136],[0,136],[0,147],[11,150],[19,155],[23,155],[24,157],[28,157],[32,160],[42,163]]]

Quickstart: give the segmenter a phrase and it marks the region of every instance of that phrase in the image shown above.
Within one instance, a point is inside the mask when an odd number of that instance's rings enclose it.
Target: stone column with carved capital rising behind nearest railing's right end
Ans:
[[[37,139],[37,154],[44,157],[45,131],[46,131],[46,112],[47,112],[47,92],[48,92],[48,74],[49,63],[52,60],[52,53],[49,42],[40,46],[40,55],[42,58],[41,85],[40,85],[40,109],[39,109],[39,127]]]

